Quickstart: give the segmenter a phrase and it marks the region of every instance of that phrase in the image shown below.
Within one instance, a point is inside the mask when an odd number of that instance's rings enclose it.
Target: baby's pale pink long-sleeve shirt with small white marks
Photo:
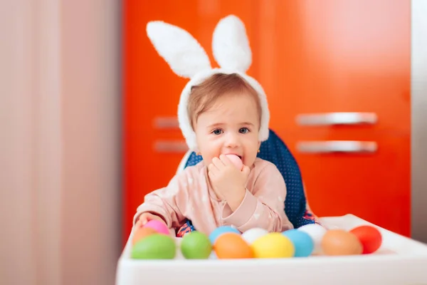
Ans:
[[[137,208],[134,222],[143,212],[157,214],[169,228],[178,228],[190,219],[196,230],[210,234],[220,226],[234,226],[241,232],[261,227],[268,232],[292,229],[285,214],[286,185],[277,167],[256,158],[246,184],[246,195],[232,211],[216,196],[209,184],[203,162],[186,167],[167,187],[149,193]]]

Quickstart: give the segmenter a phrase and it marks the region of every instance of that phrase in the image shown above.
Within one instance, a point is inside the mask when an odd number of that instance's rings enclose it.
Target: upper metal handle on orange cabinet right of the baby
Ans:
[[[377,121],[375,113],[319,113],[300,114],[296,118],[299,125],[373,125]]]

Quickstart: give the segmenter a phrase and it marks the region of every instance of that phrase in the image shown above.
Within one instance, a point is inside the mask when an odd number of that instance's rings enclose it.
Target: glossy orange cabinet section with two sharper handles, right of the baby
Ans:
[[[408,236],[410,1],[260,5],[256,76],[313,211],[356,214]]]

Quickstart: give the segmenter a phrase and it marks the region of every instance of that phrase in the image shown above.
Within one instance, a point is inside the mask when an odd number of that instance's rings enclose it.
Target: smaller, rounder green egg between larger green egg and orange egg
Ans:
[[[207,259],[212,252],[212,244],[206,234],[190,232],[182,238],[181,252],[186,259]]]

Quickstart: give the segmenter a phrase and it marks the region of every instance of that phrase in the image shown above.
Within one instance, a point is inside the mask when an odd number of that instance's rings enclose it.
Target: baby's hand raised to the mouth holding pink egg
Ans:
[[[225,199],[233,211],[237,209],[246,193],[249,167],[243,165],[243,170],[238,170],[228,157],[220,155],[212,159],[208,170],[216,195]]]

